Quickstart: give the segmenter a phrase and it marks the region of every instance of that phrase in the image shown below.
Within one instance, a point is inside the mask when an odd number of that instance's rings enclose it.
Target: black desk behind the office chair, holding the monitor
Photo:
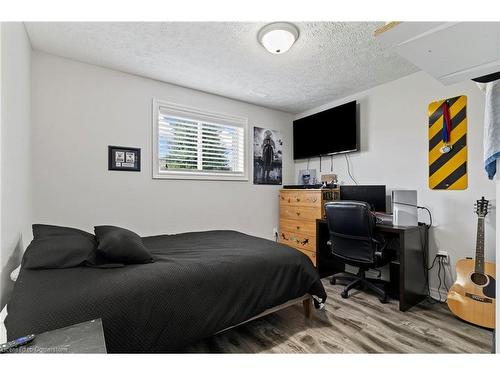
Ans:
[[[389,294],[399,300],[399,310],[406,311],[427,296],[427,226],[419,224],[414,227],[398,227],[377,224],[376,229],[390,240],[391,248],[396,252],[396,259],[389,264]],[[345,270],[345,265],[332,255],[326,244],[329,237],[326,219],[316,220],[316,260],[321,277]]]

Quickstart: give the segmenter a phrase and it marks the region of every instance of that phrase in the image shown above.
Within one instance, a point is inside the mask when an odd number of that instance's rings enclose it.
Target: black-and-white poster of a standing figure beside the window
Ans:
[[[280,132],[253,128],[253,183],[281,185],[283,140]]]

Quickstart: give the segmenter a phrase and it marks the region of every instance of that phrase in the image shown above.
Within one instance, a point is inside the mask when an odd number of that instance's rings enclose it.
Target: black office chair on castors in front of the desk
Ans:
[[[380,302],[387,302],[385,283],[378,279],[367,279],[365,272],[381,267],[391,260],[383,238],[375,238],[375,216],[366,202],[337,201],[325,204],[329,245],[332,253],[345,264],[359,267],[357,275],[340,273],[332,276],[331,284],[337,280],[349,282],[341,293],[342,298],[357,286],[368,287],[378,294]]]

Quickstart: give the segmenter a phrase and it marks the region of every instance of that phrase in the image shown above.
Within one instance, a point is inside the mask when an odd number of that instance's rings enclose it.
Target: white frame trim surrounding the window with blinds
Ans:
[[[200,170],[170,170],[160,171],[160,163],[158,158],[159,152],[159,134],[158,122],[160,107],[171,110],[174,113],[182,113],[183,116],[189,118],[190,115],[196,118],[204,118],[212,122],[222,122],[222,124],[230,124],[231,126],[238,126],[243,129],[243,172],[239,174],[224,173],[224,172],[204,172]],[[249,142],[248,142],[248,119],[238,116],[232,116],[222,113],[209,112],[196,108],[186,107],[183,105],[163,101],[153,98],[153,179],[174,179],[174,180],[214,180],[214,181],[248,181],[249,174]]]

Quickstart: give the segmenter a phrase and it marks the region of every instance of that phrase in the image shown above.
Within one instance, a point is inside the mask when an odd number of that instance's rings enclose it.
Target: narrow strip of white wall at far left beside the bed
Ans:
[[[3,22],[1,126],[1,301],[31,241],[31,44],[22,23]]]

